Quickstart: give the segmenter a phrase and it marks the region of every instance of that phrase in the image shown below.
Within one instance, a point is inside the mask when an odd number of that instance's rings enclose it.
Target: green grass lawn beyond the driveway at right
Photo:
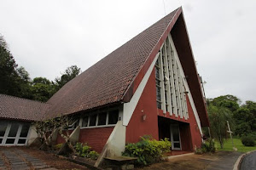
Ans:
[[[256,146],[244,146],[243,144],[241,144],[241,139],[235,138],[233,139],[233,142],[235,147],[237,148],[237,151],[247,152],[247,151],[256,150]],[[227,139],[226,141],[224,141],[223,149],[220,148],[220,144],[218,143],[217,140],[215,140],[215,145],[217,150],[231,150],[231,151],[233,150],[231,139]]]

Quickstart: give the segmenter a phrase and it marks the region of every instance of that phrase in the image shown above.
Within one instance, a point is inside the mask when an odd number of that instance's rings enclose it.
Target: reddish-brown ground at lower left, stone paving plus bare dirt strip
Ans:
[[[56,170],[56,169],[80,169],[88,168],[42,150],[33,150],[26,147],[1,147],[0,170]]]

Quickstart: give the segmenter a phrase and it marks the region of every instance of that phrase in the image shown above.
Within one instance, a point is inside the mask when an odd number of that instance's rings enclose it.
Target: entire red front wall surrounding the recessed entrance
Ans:
[[[195,121],[195,116],[190,105],[189,98],[187,97],[189,119],[185,120],[179,116],[176,117],[174,114],[170,116],[169,112],[164,114],[162,110],[158,109],[156,106],[155,91],[155,77],[153,70],[148,79],[146,87],[143,90],[143,94],[139,99],[136,109],[131,116],[131,120],[126,127],[126,143],[137,142],[140,137],[145,134],[150,134],[154,139],[159,139],[158,116],[163,116],[180,122],[183,150],[192,151],[195,145],[200,147],[201,133]],[[143,121],[143,114],[147,115],[145,121]]]

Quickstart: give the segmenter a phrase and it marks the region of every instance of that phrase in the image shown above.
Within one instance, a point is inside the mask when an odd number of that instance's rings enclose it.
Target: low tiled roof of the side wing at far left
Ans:
[[[0,118],[25,121],[43,120],[49,104],[0,94]]]

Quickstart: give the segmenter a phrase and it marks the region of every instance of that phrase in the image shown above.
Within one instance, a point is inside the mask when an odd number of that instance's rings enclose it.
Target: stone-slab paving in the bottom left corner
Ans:
[[[8,148],[0,149],[0,170],[56,170],[49,167],[38,158],[25,153],[22,150],[9,150]]]

